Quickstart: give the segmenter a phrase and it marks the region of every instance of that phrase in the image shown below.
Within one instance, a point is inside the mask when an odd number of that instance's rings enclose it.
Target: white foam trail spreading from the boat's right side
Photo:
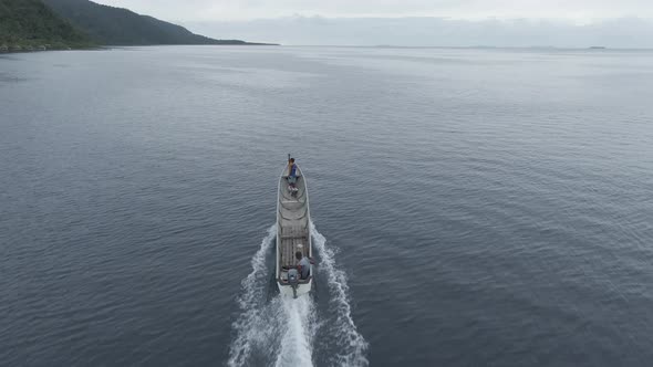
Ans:
[[[320,253],[317,276],[326,279],[330,293],[329,304],[335,311],[334,319],[326,321],[326,324],[331,324],[330,328],[333,329],[329,333],[329,337],[334,338],[338,350],[331,361],[339,366],[369,366],[370,361],[365,357],[367,342],[357,332],[351,315],[346,274],[335,265],[334,249],[326,247],[326,239],[318,232],[312,222],[311,237],[313,238],[313,248]]]

